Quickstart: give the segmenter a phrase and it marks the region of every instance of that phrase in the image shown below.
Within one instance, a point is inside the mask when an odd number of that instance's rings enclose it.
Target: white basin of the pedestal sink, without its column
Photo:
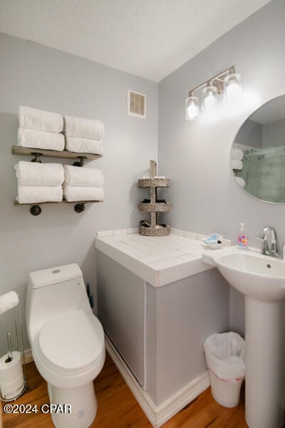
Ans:
[[[242,294],[261,302],[285,299],[285,262],[247,250],[212,257],[219,272]]]

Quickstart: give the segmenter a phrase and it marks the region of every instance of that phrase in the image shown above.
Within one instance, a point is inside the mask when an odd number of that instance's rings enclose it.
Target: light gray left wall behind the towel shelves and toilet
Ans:
[[[16,290],[24,303],[28,272],[74,262],[95,287],[96,230],[135,227],[140,220],[137,202],[145,195],[136,180],[157,159],[157,83],[4,34],[0,58],[0,295]],[[126,114],[129,88],[147,95],[145,120]],[[73,206],[44,205],[38,217],[13,205],[14,164],[29,159],[11,156],[19,105],[105,123],[104,156],[89,164],[103,170],[104,203],[86,205],[81,214]],[[1,316],[2,333],[12,329],[9,318]],[[0,340],[0,355],[5,343]]]

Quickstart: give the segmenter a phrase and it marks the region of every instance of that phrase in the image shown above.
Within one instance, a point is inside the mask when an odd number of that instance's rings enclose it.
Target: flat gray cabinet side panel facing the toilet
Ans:
[[[98,317],[141,386],[145,370],[145,282],[97,252]]]

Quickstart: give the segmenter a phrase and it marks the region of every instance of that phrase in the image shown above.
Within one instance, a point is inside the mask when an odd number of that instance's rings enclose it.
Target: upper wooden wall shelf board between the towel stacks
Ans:
[[[41,148],[27,148],[21,146],[12,146],[12,155],[33,156],[35,153],[48,158],[66,158],[66,159],[89,159],[90,161],[102,158],[102,155],[93,153],[75,153],[69,151],[43,150]]]

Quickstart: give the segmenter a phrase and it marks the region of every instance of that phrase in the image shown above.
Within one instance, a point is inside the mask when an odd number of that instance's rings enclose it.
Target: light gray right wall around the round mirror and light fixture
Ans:
[[[165,191],[172,210],[165,219],[176,228],[199,233],[218,231],[236,238],[239,223],[251,235],[274,225],[285,240],[285,205],[253,199],[235,182],[229,168],[234,137],[244,120],[261,104],[285,93],[285,1],[274,0],[243,21],[191,61],[160,82],[160,173],[171,177]],[[214,121],[185,121],[188,91],[236,64],[242,74],[244,108]],[[254,103],[255,94],[259,99]],[[242,297],[231,292],[232,329],[242,331]]]

